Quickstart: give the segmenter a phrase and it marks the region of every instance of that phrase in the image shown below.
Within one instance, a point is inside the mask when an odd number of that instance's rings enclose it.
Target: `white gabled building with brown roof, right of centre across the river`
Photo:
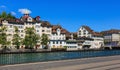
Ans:
[[[81,26],[77,32],[77,36],[78,38],[86,38],[81,44],[82,48],[98,49],[104,46],[104,39],[102,35],[99,32],[94,32],[88,26]]]

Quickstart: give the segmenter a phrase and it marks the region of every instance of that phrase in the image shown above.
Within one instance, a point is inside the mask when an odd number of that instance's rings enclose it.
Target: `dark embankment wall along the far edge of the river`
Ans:
[[[0,49],[0,53],[9,54],[9,53],[50,53],[50,52],[77,52],[77,51],[102,51],[102,50],[120,50],[120,47],[109,47],[99,48],[99,49],[79,49],[79,50],[65,50],[65,49]]]

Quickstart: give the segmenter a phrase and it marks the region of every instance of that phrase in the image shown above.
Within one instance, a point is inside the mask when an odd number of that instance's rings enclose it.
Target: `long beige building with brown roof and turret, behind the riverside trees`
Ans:
[[[15,26],[18,28],[19,30],[18,34],[21,38],[25,38],[26,28],[34,27],[36,34],[38,34],[40,37],[42,36],[42,34],[47,34],[48,37],[50,38],[52,31],[49,22],[41,21],[39,16],[32,18],[29,16],[29,14],[24,14],[24,16],[22,16],[20,19],[7,19],[7,20],[2,19],[1,24],[2,26],[5,26],[7,28],[6,30],[6,34],[8,35],[7,40],[11,41],[11,45],[9,46],[13,46],[12,39],[13,35],[15,34]]]

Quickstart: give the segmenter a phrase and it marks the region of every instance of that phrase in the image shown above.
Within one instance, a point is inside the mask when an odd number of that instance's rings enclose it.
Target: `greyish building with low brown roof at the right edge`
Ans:
[[[104,35],[105,47],[120,46],[120,30],[111,29],[101,32]]]

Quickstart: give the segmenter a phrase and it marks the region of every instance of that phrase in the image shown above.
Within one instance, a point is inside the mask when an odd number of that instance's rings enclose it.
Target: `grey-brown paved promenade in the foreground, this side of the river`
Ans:
[[[0,66],[0,70],[120,70],[120,55]]]

